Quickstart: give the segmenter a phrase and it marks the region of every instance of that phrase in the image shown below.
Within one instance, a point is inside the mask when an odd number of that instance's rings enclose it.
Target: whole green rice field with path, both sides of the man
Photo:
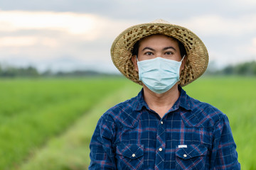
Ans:
[[[228,115],[242,169],[256,169],[255,87],[255,77],[202,77],[183,88]],[[118,77],[0,79],[0,169],[87,169],[97,120],[140,89]]]

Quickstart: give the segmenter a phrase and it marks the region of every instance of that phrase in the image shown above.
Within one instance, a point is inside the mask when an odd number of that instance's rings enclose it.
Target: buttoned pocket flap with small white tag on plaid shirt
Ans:
[[[176,148],[176,156],[181,159],[191,159],[206,155],[207,150],[203,145],[187,145],[187,147]]]

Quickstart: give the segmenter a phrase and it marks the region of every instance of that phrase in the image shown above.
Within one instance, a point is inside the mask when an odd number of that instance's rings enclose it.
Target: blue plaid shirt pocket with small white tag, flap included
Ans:
[[[176,148],[176,169],[205,169],[207,152],[203,145]]]

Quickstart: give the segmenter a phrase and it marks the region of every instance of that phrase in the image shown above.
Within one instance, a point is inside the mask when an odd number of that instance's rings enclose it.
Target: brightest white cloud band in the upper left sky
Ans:
[[[84,34],[88,40],[95,38],[97,16],[77,13],[48,11],[0,11],[0,31],[48,29],[70,34]]]

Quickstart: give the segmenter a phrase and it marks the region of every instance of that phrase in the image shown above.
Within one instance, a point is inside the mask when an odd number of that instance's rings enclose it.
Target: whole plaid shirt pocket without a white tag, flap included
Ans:
[[[116,149],[117,169],[142,169],[144,147],[137,144],[119,144]]]

